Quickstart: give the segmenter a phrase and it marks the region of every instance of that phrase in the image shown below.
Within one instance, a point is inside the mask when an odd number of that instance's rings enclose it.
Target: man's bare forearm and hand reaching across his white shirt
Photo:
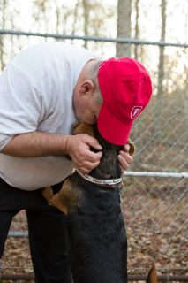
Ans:
[[[1,153],[13,157],[63,156],[68,154],[75,166],[83,173],[94,169],[102,152],[94,153],[90,147],[101,150],[94,137],[87,134],[64,135],[34,131],[15,135]]]

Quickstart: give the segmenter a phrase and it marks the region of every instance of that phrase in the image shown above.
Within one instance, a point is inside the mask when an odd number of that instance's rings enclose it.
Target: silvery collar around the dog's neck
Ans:
[[[120,189],[122,188],[122,178],[118,179],[107,179],[107,180],[101,180],[101,179],[96,179],[88,174],[82,174],[79,172],[77,168],[75,168],[75,171],[79,173],[79,175],[84,178],[85,180],[88,180],[89,182],[102,186],[102,187],[108,187],[108,188],[117,188]]]

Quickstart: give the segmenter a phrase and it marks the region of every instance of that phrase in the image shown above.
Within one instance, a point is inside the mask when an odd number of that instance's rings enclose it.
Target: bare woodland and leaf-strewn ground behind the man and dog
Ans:
[[[188,167],[188,1],[0,0],[1,70],[27,45],[54,41],[84,46],[104,58],[135,57],[146,65],[154,96],[133,127],[137,152],[130,168],[145,175],[125,176],[122,196],[129,274],[145,274],[155,262],[158,272],[187,275],[188,182],[176,173]],[[164,178],[164,172],[171,175]],[[26,230],[21,211],[11,231]],[[14,273],[32,272],[26,237],[7,241],[0,272],[12,273],[10,266]]]

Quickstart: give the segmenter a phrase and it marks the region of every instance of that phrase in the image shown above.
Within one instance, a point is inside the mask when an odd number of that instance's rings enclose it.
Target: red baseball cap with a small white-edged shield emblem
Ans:
[[[124,145],[152,96],[150,76],[131,57],[110,58],[99,65],[98,82],[103,97],[98,130],[108,142]]]

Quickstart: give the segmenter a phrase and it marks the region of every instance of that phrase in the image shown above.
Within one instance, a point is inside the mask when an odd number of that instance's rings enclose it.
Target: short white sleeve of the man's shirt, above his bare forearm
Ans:
[[[16,134],[37,129],[41,97],[34,82],[13,65],[0,76],[0,150]]]

